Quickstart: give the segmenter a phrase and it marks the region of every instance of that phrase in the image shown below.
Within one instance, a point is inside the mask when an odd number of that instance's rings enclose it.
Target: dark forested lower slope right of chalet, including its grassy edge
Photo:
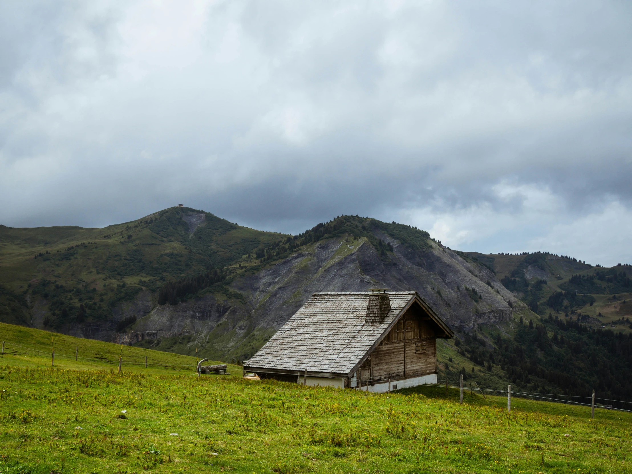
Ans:
[[[632,401],[632,333],[559,317],[533,317],[506,327],[487,325],[438,343],[440,380],[514,391]],[[614,402],[613,402],[614,403]],[[628,408],[625,403],[614,403]]]

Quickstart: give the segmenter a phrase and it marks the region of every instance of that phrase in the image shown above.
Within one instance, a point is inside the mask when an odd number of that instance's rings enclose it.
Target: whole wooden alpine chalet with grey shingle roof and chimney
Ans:
[[[371,392],[434,384],[436,340],[453,336],[416,291],[313,293],[244,372]]]

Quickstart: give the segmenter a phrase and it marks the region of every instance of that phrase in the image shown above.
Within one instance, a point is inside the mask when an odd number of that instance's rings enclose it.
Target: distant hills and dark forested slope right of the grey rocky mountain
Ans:
[[[632,288],[629,265],[592,267],[550,253],[470,258],[493,269],[530,315],[509,331],[489,325],[440,348],[441,375],[528,392],[630,400]],[[456,352],[456,354],[455,354]],[[623,406],[622,406],[623,407]]]

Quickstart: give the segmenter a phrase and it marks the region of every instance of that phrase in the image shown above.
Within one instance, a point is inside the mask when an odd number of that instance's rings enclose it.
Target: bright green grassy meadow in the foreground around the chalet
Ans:
[[[0,337],[15,328],[0,325]],[[60,354],[83,341],[83,353],[118,360],[116,344],[53,337]],[[631,413],[590,420],[588,407],[517,398],[507,413],[503,397],[466,391],[461,405],[444,387],[367,394],[245,380],[238,367],[197,377],[195,358],[126,353],[164,359],[118,374],[93,358],[50,367],[34,351],[0,356],[0,472],[632,471]]]

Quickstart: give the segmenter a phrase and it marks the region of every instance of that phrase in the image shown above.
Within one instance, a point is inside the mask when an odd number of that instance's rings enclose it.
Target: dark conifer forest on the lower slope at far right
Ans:
[[[542,324],[521,320],[513,337],[498,334],[493,343],[475,332],[455,342],[483,369],[499,365],[516,390],[590,396],[595,389],[600,398],[632,401],[632,334],[549,315]]]

